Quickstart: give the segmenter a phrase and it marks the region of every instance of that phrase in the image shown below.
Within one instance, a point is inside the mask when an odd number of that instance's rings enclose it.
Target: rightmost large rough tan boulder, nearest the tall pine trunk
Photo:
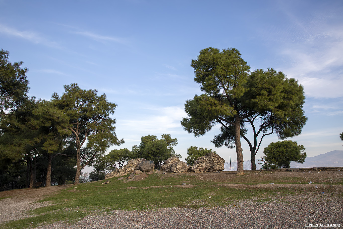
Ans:
[[[225,160],[218,154],[207,153],[205,156],[198,157],[191,167],[193,172],[216,172],[224,170]]]

